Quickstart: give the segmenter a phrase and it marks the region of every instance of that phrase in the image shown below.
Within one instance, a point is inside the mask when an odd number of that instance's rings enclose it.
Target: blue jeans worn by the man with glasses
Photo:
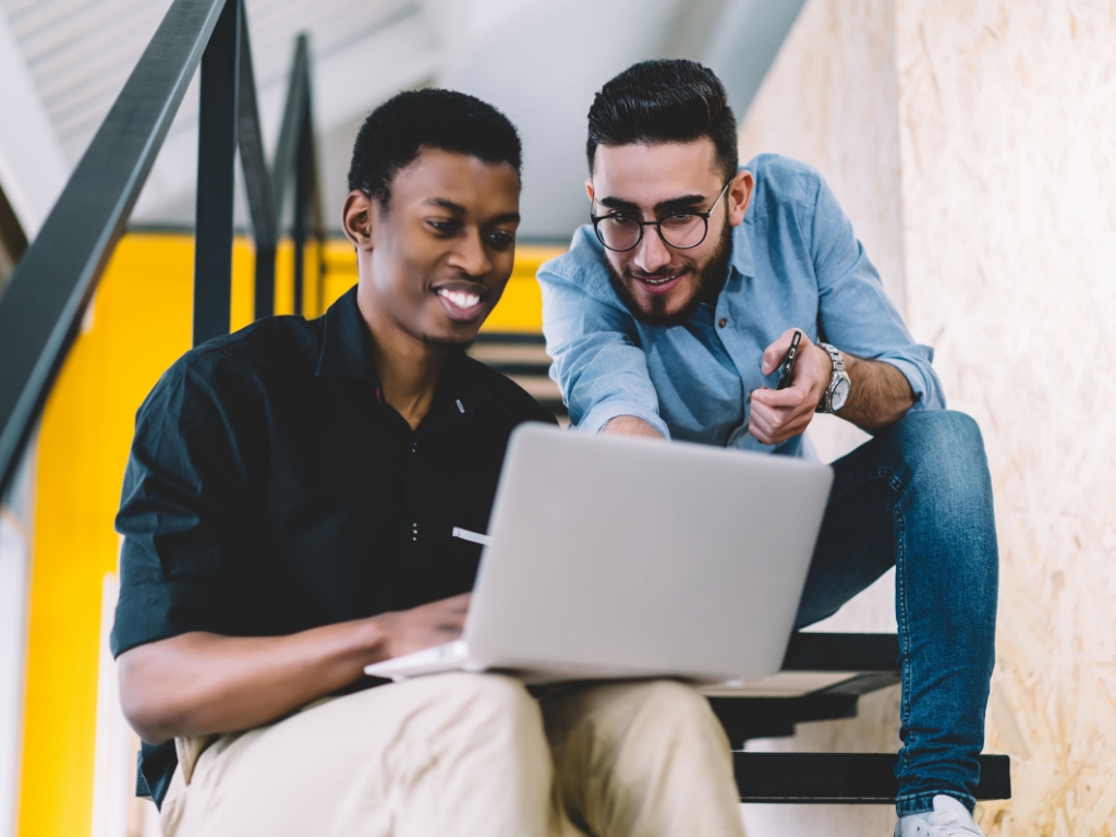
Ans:
[[[907,414],[834,463],[834,487],[797,626],[837,609],[895,565],[903,699],[899,816],[945,793],[972,810],[995,662],[999,556],[977,423]]]

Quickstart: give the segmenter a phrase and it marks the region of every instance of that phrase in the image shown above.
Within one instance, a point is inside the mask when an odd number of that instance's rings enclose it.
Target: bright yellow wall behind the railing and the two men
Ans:
[[[538,330],[535,268],[556,252],[520,248],[488,329]],[[308,316],[356,281],[352,249],[325,246],[324,280],[308,253]],[[251,320],[251,244],[233,253],[232,327]],[[289,246],[277,264],[277,310],[292,308]],[[89,834],[102,579],[116,570],[113,518],[135,411],[190,348],[193,240],[129,234],[117,247],[80,336],[47,402],[39,436],[27,714],[20,789],[22,837]]]

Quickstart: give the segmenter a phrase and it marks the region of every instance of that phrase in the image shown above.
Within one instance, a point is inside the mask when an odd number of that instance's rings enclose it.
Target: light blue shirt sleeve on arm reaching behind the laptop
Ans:
[[[658,395],[647,358],[633,339],[631,315],[590,296],[546,266],[542,333],[554,363],[552,377],[562,392],[571,424],[599,433],[613,419],[642,419],[664,436],[670,430],[658,414]]]

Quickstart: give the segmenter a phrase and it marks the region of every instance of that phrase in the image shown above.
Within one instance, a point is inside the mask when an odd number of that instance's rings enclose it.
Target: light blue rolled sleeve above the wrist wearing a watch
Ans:
[[[945,395],[931,365],[934,350],[914,341],[879,273],[853,233],[825,181],[818,177],[811,257],[824,338],[841,352],[888,363],[906,377],[915,396],[911,410],[944,410]]]

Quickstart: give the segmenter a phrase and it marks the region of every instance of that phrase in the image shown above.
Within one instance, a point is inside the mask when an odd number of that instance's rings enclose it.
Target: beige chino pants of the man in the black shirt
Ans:
[[[741,837],[729,745],[671,681],[532,699],[493,674],[338,698],[180,764],[166,837]]]

